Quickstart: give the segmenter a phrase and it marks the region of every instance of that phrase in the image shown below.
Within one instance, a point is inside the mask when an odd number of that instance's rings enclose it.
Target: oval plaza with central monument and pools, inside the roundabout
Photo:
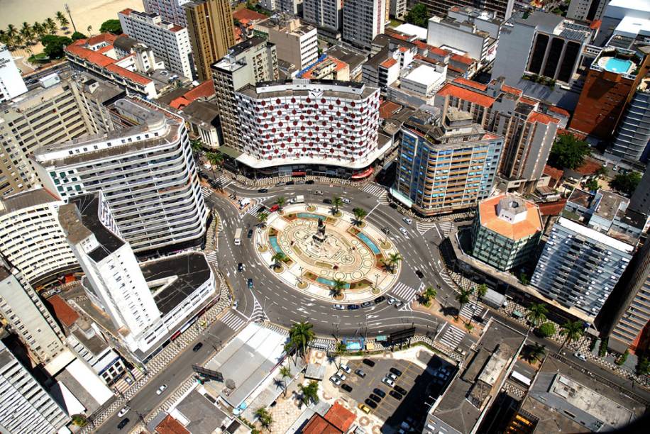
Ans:
[[[400,274],[401,255],[363,218],[329,206],[293,204],[268,216],[255,250],[278,279],[308,296],[363,303]]]

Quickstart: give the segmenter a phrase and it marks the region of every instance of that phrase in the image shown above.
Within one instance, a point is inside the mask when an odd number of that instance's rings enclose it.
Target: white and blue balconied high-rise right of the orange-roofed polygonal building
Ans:
[[[619,281],[645,219],[608,191],[575,189],[544,245],[531,284],[563,306],[596,316]]]

